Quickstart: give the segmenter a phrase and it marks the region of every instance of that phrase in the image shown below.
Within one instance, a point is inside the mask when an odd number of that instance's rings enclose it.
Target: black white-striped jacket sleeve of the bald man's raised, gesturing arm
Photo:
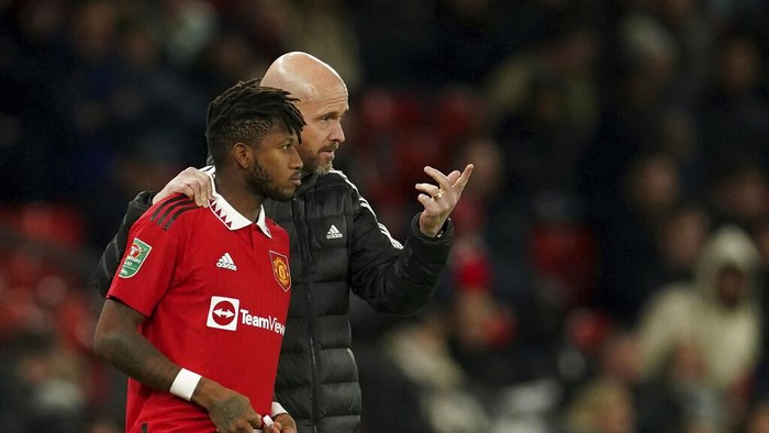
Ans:
[[[354,223],[352,290],[377,311],[413,314],[437,288],[452,249],[454,224],[447,220],[441,234],[430,237],[420,231],[416,214],[401,246],[377,221],[368,202],[357,199],[365,204],[357,209]]]

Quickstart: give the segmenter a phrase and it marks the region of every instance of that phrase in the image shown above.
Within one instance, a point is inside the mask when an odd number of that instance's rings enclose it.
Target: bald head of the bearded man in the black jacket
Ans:
[[[326,64],[304,53],[278,58],[265,73],[264,86],[287,90],[299,98],[296,103],[307,126],[297,151],[304,173],[326,174],[333,168],[335,152],[345,141],[342,119],[347,112],[347,86]]]

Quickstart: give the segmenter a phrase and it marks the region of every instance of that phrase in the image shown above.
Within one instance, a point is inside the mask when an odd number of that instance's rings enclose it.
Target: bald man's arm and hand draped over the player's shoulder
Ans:
[[[107,296],[107,291],[110,289],[112,278],[127,246],[131,226],[151,206],[175,193],[187,196],[198,206],[208,206],[208,200],[213,196],[211,176],[207,175],[210,168],[204,167],[199,170],[189,167],[163,187],[160,192],[141,192],[129,203],[127,212],[120,224],[120,229],[118,229],[118,233],[104,248],[93,275],[93,285],[101,296]]]

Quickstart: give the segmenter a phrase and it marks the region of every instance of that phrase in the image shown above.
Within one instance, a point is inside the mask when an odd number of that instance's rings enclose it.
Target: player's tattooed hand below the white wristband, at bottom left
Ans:
[[[253,433],[261,428],[261,417],[246,396],[213,380],[202,378],[192,401],[205,408],[218,433]]]

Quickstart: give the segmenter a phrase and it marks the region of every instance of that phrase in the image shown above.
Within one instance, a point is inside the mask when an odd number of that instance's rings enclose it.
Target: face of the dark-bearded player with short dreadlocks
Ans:
[[[254,193],[280,201],[291,199],[302,179],[298,143],[297,135],[290,134],[282,124],[263,136],[255,149],[256,164],[246,178]]]

